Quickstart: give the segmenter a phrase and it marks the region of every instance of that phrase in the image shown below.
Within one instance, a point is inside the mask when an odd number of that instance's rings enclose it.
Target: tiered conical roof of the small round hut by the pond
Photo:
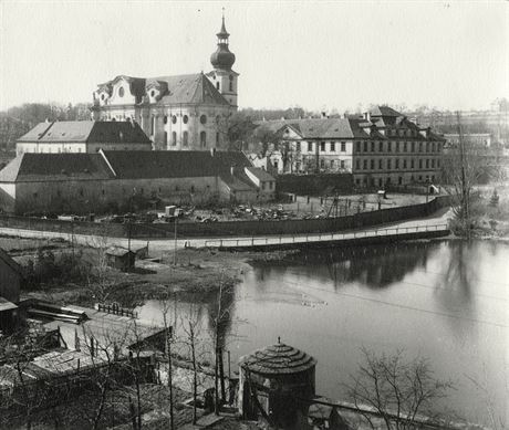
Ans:
[[[267,346],[240,358],[240,366],[262,375],[299,374],[316,366],[310,355],[284,344]]]

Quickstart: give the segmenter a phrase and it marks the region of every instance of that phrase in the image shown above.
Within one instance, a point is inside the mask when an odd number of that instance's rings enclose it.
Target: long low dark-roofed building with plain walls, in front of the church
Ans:
[[[133,200],[256,203],[274,192],[274,178],[236,151],[25,153],[0,170],[0,207],[11,213],[129,211]]]

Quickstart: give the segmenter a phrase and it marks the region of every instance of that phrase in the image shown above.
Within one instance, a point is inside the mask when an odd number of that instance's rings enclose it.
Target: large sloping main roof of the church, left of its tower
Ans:
[[[113,84],[120,78],[124,78],[129,83],[131,92],[136,97],[136,103],[139,103],[142,98],[146,101],[145,96],[148,88],[157,87],[162,95],[160,99],[157,102],[158,104],[229,105],[227,99],[202,73],[147,78],[121,75],[104,84],[100,84],[98,90],[105,90],[111,94]],[[106,105],[104,107],[108,106],[114,105]]]

